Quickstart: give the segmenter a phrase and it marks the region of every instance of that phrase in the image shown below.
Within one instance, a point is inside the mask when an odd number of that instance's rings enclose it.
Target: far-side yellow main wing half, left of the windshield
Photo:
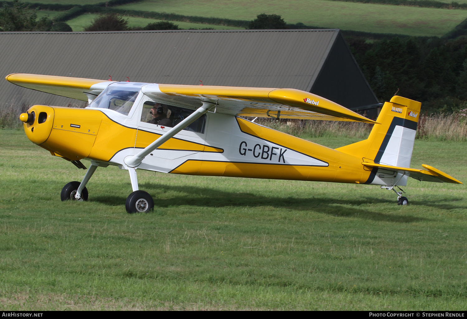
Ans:
[[[107,85],[112,83],[111,81],[105,80],[26,73],[9,74],[5,79],[8,82],[28,89],[47,92],[62,97],[71,97],[81,101],[89,100],[87,94],[98,96]]]

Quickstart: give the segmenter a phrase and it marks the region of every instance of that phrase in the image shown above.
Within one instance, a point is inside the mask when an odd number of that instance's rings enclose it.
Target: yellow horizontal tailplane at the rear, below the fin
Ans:
[[[431,181],[435,183],[462,184],[461,181],[456,180],[452,176],[449,176],[448,174],[441,172],[439,169],[436,169],[432,166],[425,165],[425,164],[422,164],[422,166],[426,168],[426,170],[416,169],[416,168],[407,168],[407,167],[389,166],[389,165],[375,164],[375,163],[369,163],[369,162],[363,162],[361,164],[367,167],[383,168],[384,170],[387,170],[390,172],[401,173],[401,174],[410,176],[411,178],[414,178],[416,180],[425,180],[425,181]]]

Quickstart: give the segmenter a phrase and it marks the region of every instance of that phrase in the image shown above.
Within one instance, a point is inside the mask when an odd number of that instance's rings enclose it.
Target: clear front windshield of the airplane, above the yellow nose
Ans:
[[[110,109],[128,115],[142,85],[144,83],[112,83],[88,107]]]

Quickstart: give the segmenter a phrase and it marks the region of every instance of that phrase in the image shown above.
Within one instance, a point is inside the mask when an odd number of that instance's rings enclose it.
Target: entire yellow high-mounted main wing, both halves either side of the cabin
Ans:
[[[78,100],[92,100],[109,84],[104,80],[14,73],[7,81],[29,89]],[[216,103],[219,113],[250,117],[299,118],[377,123],[324,97],[295,89],[208,85],[150,84],[142,92],[156,101],[197,109],[203,101]]]

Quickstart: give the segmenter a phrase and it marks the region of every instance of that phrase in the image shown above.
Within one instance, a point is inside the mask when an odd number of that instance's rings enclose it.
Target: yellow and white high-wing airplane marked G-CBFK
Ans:
[[[420,103],[394,96],[377,121],[323,97],[295,89],[115,82],[63,76],[10,74],[29,89],[88,101],[84,109],[34,105],[20,116],[33,143],[86,169],[64,186],[62,201],[87,200],[96,168],[129,172],[128,213],[148,212],[154,201],[138,189],[137,169],[163,173],[373,184],[394,190],[407,178],[462,184],[422,165],[410,167]],[[258,125],[243,117],[361,121],[374,124],[363,141],[331,149]],[[396,191],[394,187],[398,187]]]

